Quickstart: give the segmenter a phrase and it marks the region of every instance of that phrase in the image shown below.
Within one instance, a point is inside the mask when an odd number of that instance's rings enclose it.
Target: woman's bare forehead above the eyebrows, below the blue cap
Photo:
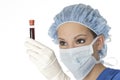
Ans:
[[[74,23],[74,22],[68,22],[60,25],[60,27],[57,30],[58,36],[70,36],[73,34],[89,34],[90,30],[79,24],[79,23]]]

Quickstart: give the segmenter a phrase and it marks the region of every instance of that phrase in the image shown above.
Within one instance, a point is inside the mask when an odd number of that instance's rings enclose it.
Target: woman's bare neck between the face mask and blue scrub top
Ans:
[[[99,63],[94,66],[92,71],[85,77],[84,80],[96,80],[97,77],[101,74],[101,72],[105,69],[106,67]]]

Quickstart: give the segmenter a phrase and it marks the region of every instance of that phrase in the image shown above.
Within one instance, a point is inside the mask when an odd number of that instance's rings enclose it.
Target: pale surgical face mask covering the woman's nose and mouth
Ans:
[[[64,65],[72,72],[76,80],[83,80],[93,69],[96,59],[92,56],[93,44],[98,39],[95,38],[90,45],[60,49],[60,57]]]

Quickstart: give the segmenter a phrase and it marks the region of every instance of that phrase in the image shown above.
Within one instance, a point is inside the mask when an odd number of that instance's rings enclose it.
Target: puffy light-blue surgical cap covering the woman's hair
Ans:
[[[49,28],[48,35],[53,38],[55,43],[58,42],[57,29],[67,22],[80,23],[97,35],[103,34],[105,39],[109,37],[110,27],[97,9],[85,4],[75,4],[65,7],[54,17],[54,23]],[[99,51],[100,57],[104,57],[106,53],[107,46],[104,43],[102,50]]]

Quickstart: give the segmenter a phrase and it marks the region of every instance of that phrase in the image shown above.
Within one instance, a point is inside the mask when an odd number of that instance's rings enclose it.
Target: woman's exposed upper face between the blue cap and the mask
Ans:
[[[88,45],[94,37],[91,31],[79,23],[65,23],[58,28],[59,47],[62,49]]]

